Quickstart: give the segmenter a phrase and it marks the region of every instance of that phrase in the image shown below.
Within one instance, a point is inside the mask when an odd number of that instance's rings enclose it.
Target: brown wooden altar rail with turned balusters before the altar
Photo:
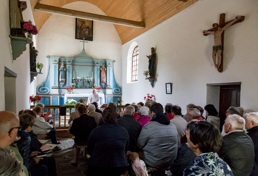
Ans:
[[[50,109],[53,109],[54,125],[55,125],[55,117],[56,117],[56,115],[55,115],[54,112],[56,111],[56,109],[59,109],[60,106],[64,106],[64,105],[46,105],[46,106],[44,107],[44,109],[47,109],[47,112],[48,112],[48,113],[50,113]],[[70,115],[71,115],[71,111],[72,111],[72,109],[74,108],[74,105],[65,105],[65,106],[66,106],[66,108],[69,108],[69,109],[70,109]],[[86,105],[87,111],[88,111],[88,106],[89,106],[89,105]],[[35,107],[35,105],[31,105],[31,106],[30,106],[31,109],[34,108],[34,107]],[[124,109],[124,106],[123,106],[123,105],[120,105],[120,106],[117,105],[117,108],[118,108],[118,112],[120,113],[120,112],[121,112],[121,108]],[[52,113],[50,113],[50,114],[52,114]],[[66,126],[66,115],[64,116],[64,126],[61,127],[60,111],[59,111],[59,125],[58,125],[58,127],[57,127],[57,126],[55,126],[55,127],[56,127],[56,129],[68,129],[68,128],[69,128],[69,125]]]

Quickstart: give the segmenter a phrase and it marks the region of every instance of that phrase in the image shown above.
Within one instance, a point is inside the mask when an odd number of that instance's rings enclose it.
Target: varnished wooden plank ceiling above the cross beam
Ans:
[[[178,0],[30,0],[35,25],[38,30],[52,15],[46,12],[34,11],[34,7],[38,2],[63,7],[66,4],[77,1],[91,3],[100,8],[107,16],[138,22],[143,21],[145,23],[144,29],[114,24],[122,44],[125,44],[198,0],[188,0],[187,2]]]

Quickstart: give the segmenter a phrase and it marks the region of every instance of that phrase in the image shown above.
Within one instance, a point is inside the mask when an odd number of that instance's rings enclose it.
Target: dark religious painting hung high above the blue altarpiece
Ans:
[[[76,18],[75,39],[93,41],[93,21]]]

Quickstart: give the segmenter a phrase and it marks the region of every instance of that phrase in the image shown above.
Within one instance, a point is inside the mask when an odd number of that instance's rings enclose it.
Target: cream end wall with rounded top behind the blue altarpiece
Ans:
[[[88,2],[73,2],[63,6],[73,10],[105,15],[98,7]],[[75,18],[63,15],[51,15],[39,31],[38,58],[45,67],[42,75],[38,76],[37,85],[46,78],[47,55],[74,57],[81,53],[83,43],[75,39]],[[121,85],[121,47],[114,25],[106,22],[93,22],[93,41],[85,43],[86,53],[94,59],[115,60],[114,71],[116,81]],[[76,76],[76,75],[75,75]],[[89,76],[89,75],[88,75]],[[87,77],[85,75],[84,77]]]

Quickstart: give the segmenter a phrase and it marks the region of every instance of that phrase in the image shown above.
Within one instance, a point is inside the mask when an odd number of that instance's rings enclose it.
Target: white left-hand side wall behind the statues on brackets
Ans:
[[[27,2],[27,9],[22,12],[23,19],[25,21],[33,20],[31,8],[28,6],[29,1]],[[9,1],[1,1],[0,6],[0,38],[1,38],[1,47],[0,47],[0,111],[5,110],[5,82],[4,82],[4,70],[5,67],[17,74],[15,78],[16,88],[14,85],[10,84],[10,89],[15,89],[16,92],[16,111],[18,113],[22,109],[29,108],[29,96],[36,93],[36,81],[33,81],[30,84],[30,68],[29,68],[29,44],[26,45],[26,51],[23,51],[23,54],[19,56],[16,60],[12,62],[12,48],[10,44],[10,24],[9,24]],[[34,85],[35,84],[35,85]]]

